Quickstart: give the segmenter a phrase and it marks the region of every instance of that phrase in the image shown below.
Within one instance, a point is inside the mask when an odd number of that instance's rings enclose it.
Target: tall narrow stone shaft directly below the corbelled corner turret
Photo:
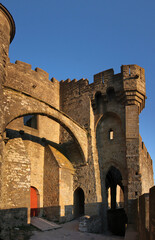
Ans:
[[[141,195],[139,176],[139,116],[138,106],[126,106],[126,161],[128,168],[128,199]]]

